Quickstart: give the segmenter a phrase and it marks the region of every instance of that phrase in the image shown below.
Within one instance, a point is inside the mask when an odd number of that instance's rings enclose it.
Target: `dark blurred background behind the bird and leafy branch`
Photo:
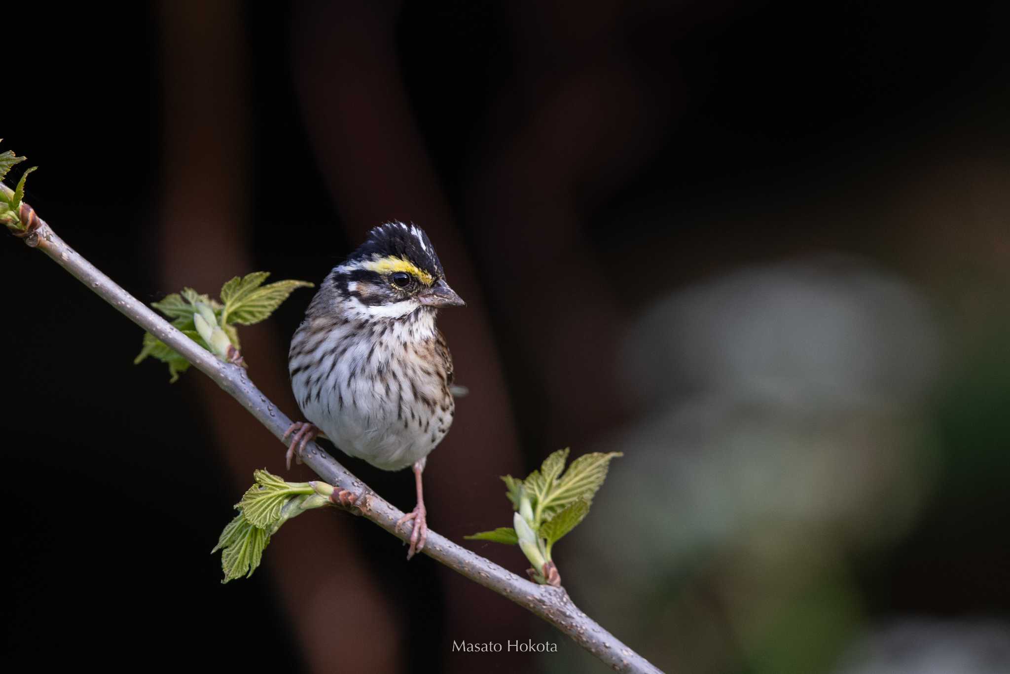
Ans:
[[[369,227],[422,225],[468,300],[439,321],[471,394],[425,472],[432,527],[506,525],[498,476],[559,448],[623,452],[556,560],[665,671],[1008,672],[1008,21],[999,2],[18,3],[0,150],[144,301],[261,269],[319,282]],[[37,253],[9,238],[0,266],[6,660],[604,671],[338,512],[221,586],[208,553],[283,448],[198,373],[133,366],[141,331]],[[310,298],[242,331],[290,415]],[[336,456],[412,505],[409,473]],[[559,652],[451,652],[527,639]]]

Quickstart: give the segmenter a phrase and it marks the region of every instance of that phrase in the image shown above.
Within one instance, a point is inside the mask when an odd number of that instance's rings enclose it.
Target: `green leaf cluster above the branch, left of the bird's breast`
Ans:
[[[214,330],[213,333],[225,344],[230,344],[237,352],[241,348],[237,325],[252,325],[265,320],[295,289],[312,287],[307,281],[292,280],[263,285],[269,276],[270,272],[254,272],[244,277],[234,277],[221,287],[220,301],[192,288],[183,288],[181,293],[172,293],[159,302],[153,302],[152,306],[164,313],[186,336],[207,351],[225,358],[223,350],[218,348],[220,345],[212,339],[212,343],[208,344],[208,340],[201,335],[196,316],[212,318],[213,325],[210,329]],[[217,330],[223,332],[223,335]],[[144,332],[140,353],[133,359],[133,363],[140,363],[148,356],[169,366],[171,382],[178,380],[179,375],[190,367],[189,361],[182,355],[150,332]]]

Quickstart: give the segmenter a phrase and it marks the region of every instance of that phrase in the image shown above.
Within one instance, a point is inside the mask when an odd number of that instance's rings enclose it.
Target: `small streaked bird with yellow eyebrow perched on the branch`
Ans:
[[[424,230],[388,222],[333,268],[291,340],[291,386],[308,421],[285,434],[294,434],[288,467],[322,435],[377,468],[412,465],[417,505],[397,522],[414,522],[408,560],[427,538],[421,473],[456,413],[435,314],[464,305]]]

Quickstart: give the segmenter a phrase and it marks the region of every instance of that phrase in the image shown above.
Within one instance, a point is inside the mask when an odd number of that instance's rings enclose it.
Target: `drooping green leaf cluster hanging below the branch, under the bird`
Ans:
[[[252,473],[256,484],[235,503],[238,514],[224,527],[211,554],[221,551],[222,583],[248,578],[263,560],[263,551],[281,524],[329,499],[311,482],[285,482],[266,470]],[[325,485],[323,485],[325,490]]]

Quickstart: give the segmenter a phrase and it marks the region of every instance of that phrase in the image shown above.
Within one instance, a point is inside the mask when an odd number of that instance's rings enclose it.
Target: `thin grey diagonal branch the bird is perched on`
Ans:
[[[11,190],[2,183],[0,191],[8,197],[11,194]],[[175,349],[241,403],[279,441],[281,440],[284,431],[291,425],[291,419],[260,392],[260,389],[249,381],[245,370],[219,361],[116,285],[74,249],[67,246],[27,204],[22,204],[20,219],[25,229],[17,235],[28,247],[38,249],[47,255],[120,313]],[[409,531],[404,533],[396,528],[396,522],[403,512],[372,491],[318,445],[310,443],[306,447],[303,460],[316,474],[335,487],[356,494],[362,493],[361,498],[367,499],[368,502],[368,507],[363,509],[363,516],[398,539],[409,540]],[[539,615],[615,671],[648,673],[660,671],[580,610],[569,598],[565,588],[531,583],[431,531],[428,532],[427,545],[423,553]]]

